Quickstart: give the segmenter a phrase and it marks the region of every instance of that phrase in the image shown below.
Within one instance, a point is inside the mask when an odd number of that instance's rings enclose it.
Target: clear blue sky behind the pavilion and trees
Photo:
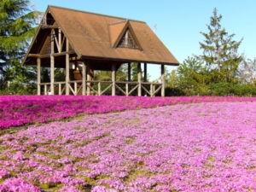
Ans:
[[[234,40],[243,38],[239,52],[248,59],[256,57],[256,1],[253,0],[31,0],[31,3],[36,3],[37,10],[42,12],[50,4],[143,20],[152,29],[156,25],[156,35],[180,63],[188,56],[202,54],[199,42],[204,37],[200,32],[208,32],[212,11],[217,8],[218,14],[223,15],[222,27],[229,34],[236,34]],[[158,79],[160,67],[149,65],[148,73],[150,80]]]

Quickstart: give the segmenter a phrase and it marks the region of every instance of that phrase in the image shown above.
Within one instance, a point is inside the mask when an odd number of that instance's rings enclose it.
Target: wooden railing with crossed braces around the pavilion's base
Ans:
[[[92,85],[93,84],[93,85]],[[105,86],[102,86],[102,85]],[[119,93],[122,93],[124,96],[131,96],[131,94],[137,90],[137,95],[142,96],[142,92],[144,91],[147,96],[155,96],[161,88],[162,84],[159,83],[150,83],[150,82],[142,82],[139,84],[138,82],[127,82],[127,81],[118,81],[113,83],[112,81],[100,81],[100,80],[87,80],[85,84],[84,93],[86,95],[97,95],[102,96],[106,95],[113,95],[109,94],[109,91],[113,90],[113,84],[114,89],[118,90]],[[124,86],[125,85],[125,86]],[[41,83],[40,86],[44,86],[44,95],[52,94],[50,93],[50,83]],[[55,95],[65,95],[66,92],[66,82],[55,82]],[[102,87],[104,87],[104,90],[102,90]],[[83,89],[83,81],[82,80],[73,80],[68,81],[68,93],[69,90],[71,90],[71,93],[74,96],[82,95],[82,89]]]

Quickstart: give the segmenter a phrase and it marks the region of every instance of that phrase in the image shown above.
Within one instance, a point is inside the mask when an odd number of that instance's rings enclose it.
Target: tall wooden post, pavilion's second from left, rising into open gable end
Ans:
[[[55,95],[55,57],[52,55],[55,53],[55,39],[54,29],[51,31],[51,42],[50,42],[50,95]]]

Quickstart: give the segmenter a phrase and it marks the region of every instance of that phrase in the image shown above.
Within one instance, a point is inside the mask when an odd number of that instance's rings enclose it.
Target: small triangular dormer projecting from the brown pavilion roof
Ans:
[[[129,48],[143,50],[129,20],[109,24],[109,35],[113,49]]]

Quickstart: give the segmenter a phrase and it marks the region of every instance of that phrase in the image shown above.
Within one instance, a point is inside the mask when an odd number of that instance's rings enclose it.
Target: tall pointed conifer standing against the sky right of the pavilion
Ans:
[[[199,58],[206,62],[208,71],[212,72],[214,79],[218,82],[233,82],[237,68],[243,59],[237,52],[242,38],[238,42],[233,40],[235,34],[229,35],[221,27],[221,19],[222,15],[218,15],[218,10],[215,8],[210,18],[210,25],[207,25],[209,32],[201,32],[206,40],[200,43],[203,55]]]

